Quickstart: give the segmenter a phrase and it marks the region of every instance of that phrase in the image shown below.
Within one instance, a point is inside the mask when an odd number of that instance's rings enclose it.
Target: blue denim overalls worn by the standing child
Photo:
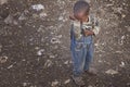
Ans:
[[[80,27],[78,29],[81,32],[82,28],[83,25],[80,24]],[[83,36],[80,33],[80,36],[77,39],[74,23],[72,24],[70,28],[70,51],[73,55],[74,76],[79,76],[83,71],[89,70],[90,63],[92,61],[93,36]]]

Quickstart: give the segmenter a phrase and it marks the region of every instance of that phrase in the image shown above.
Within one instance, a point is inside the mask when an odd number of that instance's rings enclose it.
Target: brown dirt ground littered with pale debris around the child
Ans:
[[[68,18],[77,0],[0,0],[0,87],[76,87]],[[86,87],[130,87],[130,0],[87,0],[98,14]],[[98,2],[96,2],[98,1]]]

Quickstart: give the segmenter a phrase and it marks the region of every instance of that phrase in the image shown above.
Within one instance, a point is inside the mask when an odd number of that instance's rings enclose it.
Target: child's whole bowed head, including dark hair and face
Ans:
[[[81,22],[88,20],[89,11],[90,5],[84,0],[77,1],[74,5],[74,16]]]

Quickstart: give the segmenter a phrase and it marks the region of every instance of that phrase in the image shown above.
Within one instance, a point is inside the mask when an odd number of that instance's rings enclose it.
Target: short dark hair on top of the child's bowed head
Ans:
[[[90,5],[87,1],[84,0],[79,0],[75,3],[74,5],[74,14],[77,14],[81,11],[84,11],[84,14],[87,15],[90,11]]]

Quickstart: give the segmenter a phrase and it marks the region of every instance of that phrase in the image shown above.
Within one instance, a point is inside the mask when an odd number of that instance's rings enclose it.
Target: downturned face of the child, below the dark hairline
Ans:
[[[84,14],[84,11],[81,11],[81,12],[75,14],[74,16],[80,22],[87,22],[88,21],[88,15]]]

